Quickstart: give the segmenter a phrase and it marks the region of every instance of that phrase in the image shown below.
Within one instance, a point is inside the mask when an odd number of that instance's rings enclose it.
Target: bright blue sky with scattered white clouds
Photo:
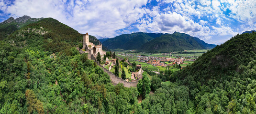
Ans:
[[[0,22],[23,15],[97,38],[177,31],[219,45],[256,30],[256,0],[0,0]]]

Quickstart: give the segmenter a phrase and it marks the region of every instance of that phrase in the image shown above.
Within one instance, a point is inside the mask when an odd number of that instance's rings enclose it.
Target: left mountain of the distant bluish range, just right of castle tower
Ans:
[[[102,44],[109,49],[137,49],[146,42],[160,37],[163,33],[144,33],[136,32],[132,34],[123,34],[115,38],[109,38]]]

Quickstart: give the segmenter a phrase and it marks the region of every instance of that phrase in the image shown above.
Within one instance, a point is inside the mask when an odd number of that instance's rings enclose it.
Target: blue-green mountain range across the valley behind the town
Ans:
[[[184,33],[173,34],[137,32],[123,34],[115,38],[105,38],[102,44],[109,49],[135,49],[142,52],[173,52],[191,49],[211,49],[214,44],[207,44],[196,37]]]

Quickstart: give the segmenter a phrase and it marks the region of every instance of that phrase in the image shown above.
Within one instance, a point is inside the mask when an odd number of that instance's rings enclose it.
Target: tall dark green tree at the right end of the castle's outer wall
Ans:
[[[142,98],[145,99],[145,96],[149,94],[151,90],[150,89],[151,83],[146,72],[143,72],[142,76],[143,76],[142,79],[140,79],[137,84],[137,89],[139,94],[142,95]]]

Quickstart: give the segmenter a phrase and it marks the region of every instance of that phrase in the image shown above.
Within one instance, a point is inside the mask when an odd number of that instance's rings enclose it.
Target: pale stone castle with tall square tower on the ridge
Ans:
[[[85,53],[88,53],[88,58],[91,56],[96,57],[98,52],[100,52],[100,56],[106,54],[105,51],[102,50],[102,44],[94,45],[92,42],[89,42],[89,35],[88,33],[83,35],[83,48]]]

